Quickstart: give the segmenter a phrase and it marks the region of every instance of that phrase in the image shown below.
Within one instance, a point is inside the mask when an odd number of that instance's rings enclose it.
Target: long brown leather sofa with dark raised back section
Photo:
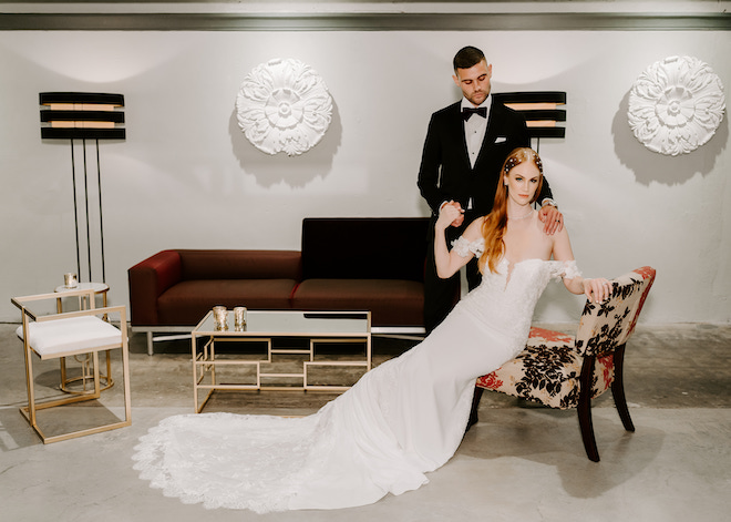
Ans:
[[[167,249],[128,269],[131,324],[189,332],[215,305],[370,310],[374,334],[421,334],[429,219],[306,218],[301,250]]]

